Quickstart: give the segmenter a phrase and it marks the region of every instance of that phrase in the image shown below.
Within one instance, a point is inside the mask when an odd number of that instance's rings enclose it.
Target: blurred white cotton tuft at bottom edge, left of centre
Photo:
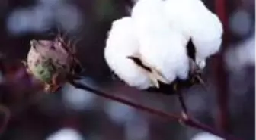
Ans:
[[[85,140],[85,138],[75,129],[62,128],[57,132],[53,132],[46,140]]]

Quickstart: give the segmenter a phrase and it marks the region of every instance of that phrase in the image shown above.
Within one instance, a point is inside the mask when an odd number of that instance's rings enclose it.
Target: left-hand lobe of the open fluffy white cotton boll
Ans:
[[[136,64],[128,59],[139,51],[139,42],[133,29],[133,21],[130,17],[123,17],[112,23],[108,33],[104,58],[108,66],[129,86],[138,89],[147,89],[151,82]]]

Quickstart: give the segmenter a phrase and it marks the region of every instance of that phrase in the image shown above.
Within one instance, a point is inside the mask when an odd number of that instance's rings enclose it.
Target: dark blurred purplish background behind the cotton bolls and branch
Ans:
[[[203,0],[216,12],[224,0]],[[56,27],[79,40],[83,81],[95,89],[178,114],[175,96],[139,92],[114,79],[103,51],[111,22],[129,15],[132,0],[0,0],[0,103],[11,110],[1,140],[218,140],[66,84],[54,94],[41,92],[25,73],[31,39],[48,39]],[[185,5],[185,4],[184,4]],[[184,91],[190,114],[243,139],[256,138],[256,1],[226,0],[223,51],[209,59],[203,86]],[[202,19],[203,21],[203,19]],[[0,107],[1,109],[2,107]],[[0,111],[0,124],[5,123]],[[210,139],[211,138],[211,139]]]

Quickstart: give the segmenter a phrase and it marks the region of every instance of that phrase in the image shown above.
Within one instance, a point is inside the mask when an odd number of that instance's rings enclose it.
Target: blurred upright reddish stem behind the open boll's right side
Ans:
[[[226,14],[226,1],[225,0],[216,0],[215,1],[215,11],[219,16],[219,19],[222,21],[224,28],[224,36],[222,43],[222,50],[217,55],[216,60],[214,61],[214,67],[216,71],[216,85],[218,86],[217,91],[217,103],[218,110],[216,112],[216,126],[220,131],[229,132],[229,90],[227,86],[228,82],[228,73],[226,73],[224,64],[224,51],[226,50],[226,42],[228,40],[228,18]]]

